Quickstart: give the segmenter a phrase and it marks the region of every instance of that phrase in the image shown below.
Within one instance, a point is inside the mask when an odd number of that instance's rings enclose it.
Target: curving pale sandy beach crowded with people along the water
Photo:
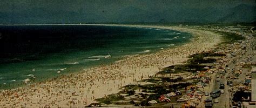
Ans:
[[[166,66],[182,64],[187,56],[212,50],[221,42],[221,36],[203,30],[178,26],[86,24],[104,26],[131,26],[139,28],[170,29],[188,32],[191,41],[176,48],[163,49],[156,53],[133,55],[110,65],[100,65],[69,76],[62,76],[41,83],[27,85],[14,90],[2,91],[0,107],[82,107],[111,93],[122,90],[127,84],[138,84],[138,80],[154,76]]]

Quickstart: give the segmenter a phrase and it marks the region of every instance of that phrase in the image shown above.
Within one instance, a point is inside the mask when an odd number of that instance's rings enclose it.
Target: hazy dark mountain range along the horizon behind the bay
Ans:
[[[26,11],[0,11],[0,24],[53,24],[53,23],[123,23],[123,22],[159,22],[159,23],[234,23],[255,22],[254,5],[240,4],[233,8],[190,9],[172,6],[166,10],[143,10],[127,6],[120,10],[103,11],[64,11],[33,8]]]

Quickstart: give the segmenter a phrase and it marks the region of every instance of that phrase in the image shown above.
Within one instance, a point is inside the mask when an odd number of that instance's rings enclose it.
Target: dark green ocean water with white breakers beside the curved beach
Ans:
[[[189,33],[122,26],[0,26],[0,89],[187,43]]]

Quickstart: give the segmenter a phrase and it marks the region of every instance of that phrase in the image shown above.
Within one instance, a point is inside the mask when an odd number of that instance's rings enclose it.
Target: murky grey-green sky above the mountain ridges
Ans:
[[[70,11],[115,11],[133,6],[144,10],[185,8],[225,8],[239,4],[255,5],[254,0],[1,0],[0,11],[25,11],[34,8]]]

